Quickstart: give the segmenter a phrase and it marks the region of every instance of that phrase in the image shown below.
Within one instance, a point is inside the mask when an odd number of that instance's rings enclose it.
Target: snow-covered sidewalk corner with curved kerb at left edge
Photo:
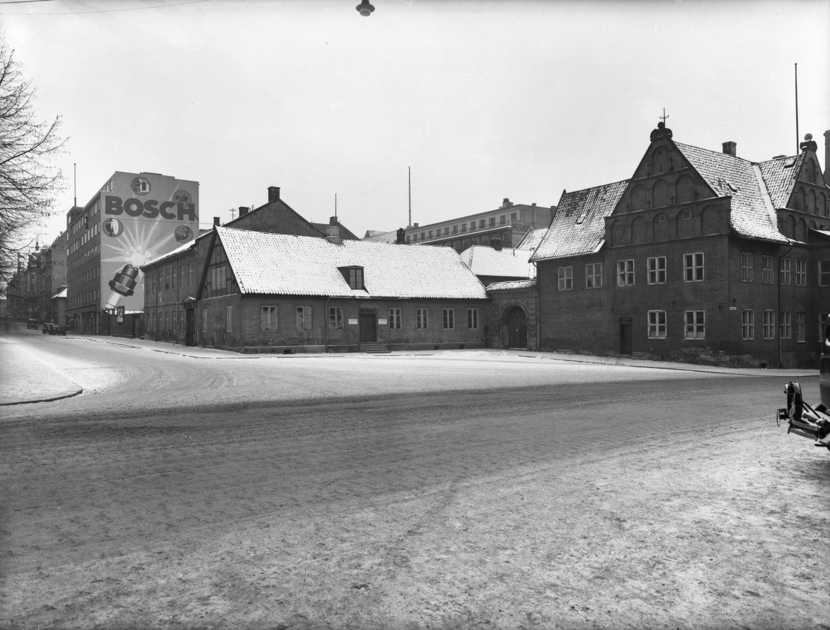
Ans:
[[[84,391],[6,335],[0,337],[0,382],[0,405],[46,403]],[[37,387],[32,387],[32,383],[37,383]]]

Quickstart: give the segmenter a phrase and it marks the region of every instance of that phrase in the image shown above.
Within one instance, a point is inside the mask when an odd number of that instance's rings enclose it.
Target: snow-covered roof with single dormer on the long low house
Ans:
[[[334,245],[217,227],[243,294],[361,298],[486,299],[478,278],[451,247],[410,247],[365,241]],[[338,267],[364,267],[366,291],[353,291]]]

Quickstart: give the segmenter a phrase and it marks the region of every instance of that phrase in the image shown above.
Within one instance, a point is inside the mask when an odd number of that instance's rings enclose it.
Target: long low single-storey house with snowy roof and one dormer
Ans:
[[[199,344],[242,352],[481,348],[484,286],[447,248],[215,227]]]

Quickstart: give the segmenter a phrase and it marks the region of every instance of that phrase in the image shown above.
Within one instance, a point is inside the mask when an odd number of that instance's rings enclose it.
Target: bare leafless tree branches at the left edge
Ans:
[[[17,259],[32,245],[32,228],[52,212],[61,189],[61,171],[53,162],[64,140],[60,116],[36,119],[35,88],[23,76],[0,33],[0,295],[17,271]]]

